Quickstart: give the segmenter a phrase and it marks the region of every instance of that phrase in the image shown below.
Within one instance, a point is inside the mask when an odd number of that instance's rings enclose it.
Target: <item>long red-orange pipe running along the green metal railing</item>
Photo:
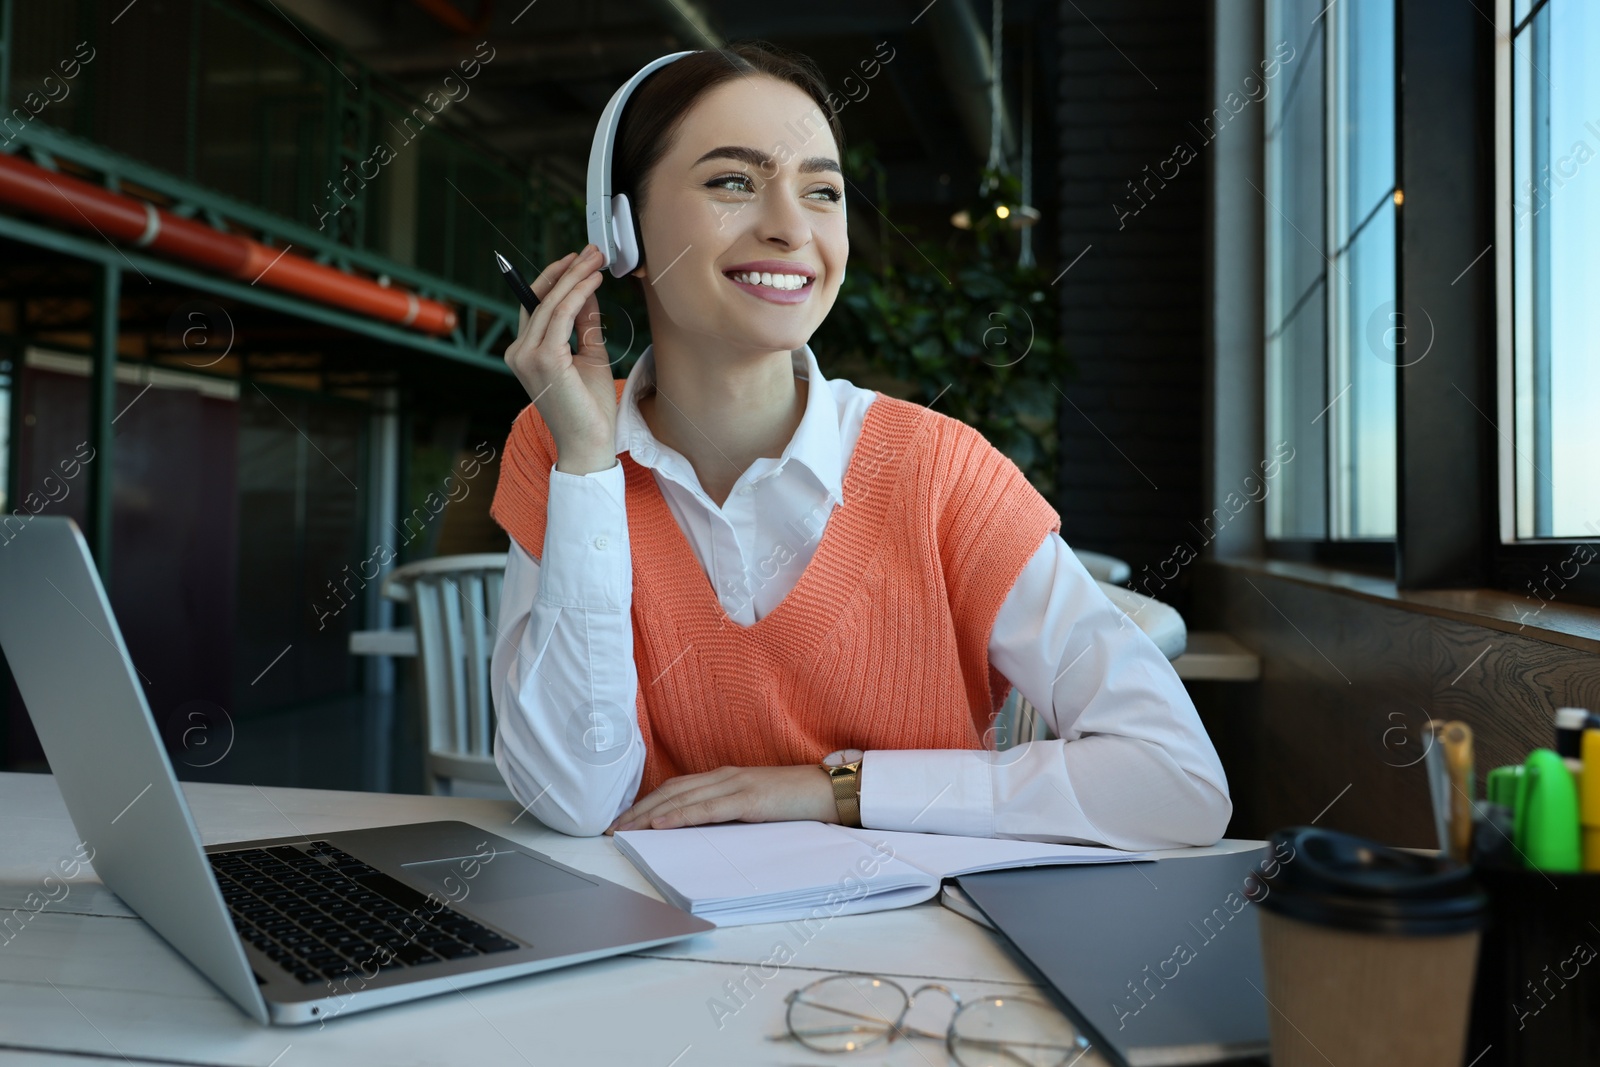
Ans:
[[[154,203],[48,171],[14,155],[0,154],[0,202],[82,230],[98,230],[107,238],[187,259],[234,278],[261,282],[422,333],[448,334],[456,328],[456,310],[448,304],[357,278],[238,234],[224,234],[163,211]]]

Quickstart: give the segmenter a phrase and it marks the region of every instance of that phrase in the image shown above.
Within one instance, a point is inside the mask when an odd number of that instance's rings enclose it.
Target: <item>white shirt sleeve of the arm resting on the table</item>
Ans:
[[[862,825],[1125,849],[1222,837],[1234,805],[1194,701],[1059,534],[1006,595],[989,654],[1056,739],[867,752]]]

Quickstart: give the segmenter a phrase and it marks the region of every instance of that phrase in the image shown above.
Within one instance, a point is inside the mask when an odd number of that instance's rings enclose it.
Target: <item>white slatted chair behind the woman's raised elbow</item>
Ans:
[[[382,595],[411,605],[430,793],[510,797],[494,766],[494,651],[506,553],[446,555],[398,566]],[[355,648],[352,635],[352,651]]]

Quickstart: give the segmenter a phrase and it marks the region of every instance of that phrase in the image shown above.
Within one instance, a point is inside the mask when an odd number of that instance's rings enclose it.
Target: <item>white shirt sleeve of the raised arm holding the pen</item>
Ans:
[[[490,681],[494,765],[544,825],[603,832],[645,773],[622,464],[550,469],[544,558],[512,539]]]

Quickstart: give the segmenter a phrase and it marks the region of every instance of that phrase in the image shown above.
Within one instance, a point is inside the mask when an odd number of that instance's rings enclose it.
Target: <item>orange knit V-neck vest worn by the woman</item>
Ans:
[[[678,774],[816,763],[835,749],[986,747],[1011,691],[989,665],[989,635],[1061,517],[978,430],[877,394],[816,555],[750,627],[723,611],[654,472],[630,453],[619,461],[640,797]],[[530,403],[506,442],[490,514],[536,560],[554,464],[555,440]]]

